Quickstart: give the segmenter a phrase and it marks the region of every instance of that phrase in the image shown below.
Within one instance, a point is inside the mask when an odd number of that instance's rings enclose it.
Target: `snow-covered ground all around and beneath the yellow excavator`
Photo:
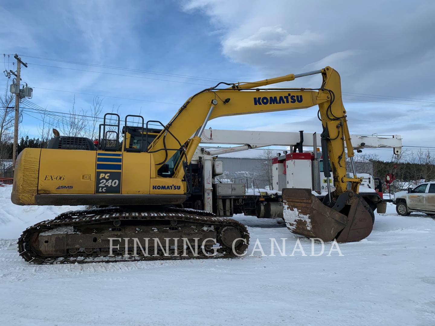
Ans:
[[[435,325],[435,221],[398,216],[388,204],[371,235],[325,244],[284,223],[236,216],[269,255],[271,242],[297,239],[308,256],[253,256],[131,263],[38,266],[25,263],[15,239],[27,226],[70,210],[19,207],[0,187],[2,325]],[[77,207],[74,207],[77,209]],[[315,253],[321,244],[314,246]]]

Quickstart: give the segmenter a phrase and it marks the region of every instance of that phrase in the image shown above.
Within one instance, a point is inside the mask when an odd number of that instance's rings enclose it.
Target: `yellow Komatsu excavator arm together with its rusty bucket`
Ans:
[[[291,81],[320,73],[319,88],[260,88],[269,84]],[[288,229],[296,234],[324,241],[337,239],[339,242],[358,241],[367,237],[372,230],[373,212],[365,200],[358,196],[358,179],[353,162],[354,151],[349,135],[346,110],[341,100],[340,75],[331,67],[322,70],[286,75],[254,83],[228,84],[229,88],[215,87],[191,96],[177,111],[164,130],[156,137],[148,150],[153,153],[155,173],[171,156],[170,150],[181,150],[173,178],[184,177],[187,164],[201,142],[201,134],[207,121],[221,116],[250,113],[276,112],[306,109],[318,106],[321,120],[321,147],[324,157],[329,157],[334,173],[335,192],[331,194],[327,181],[328,196],[320,200],[311,189],[286,188],[283,190],[284,220]],[[351,161],[353,178],[346,175],[346,149]],[[157,163],[158,162],[158,163]],[[330,177],[328,160],[324,160],[324,171]],[[351,190],[347,189],[348,183]]]

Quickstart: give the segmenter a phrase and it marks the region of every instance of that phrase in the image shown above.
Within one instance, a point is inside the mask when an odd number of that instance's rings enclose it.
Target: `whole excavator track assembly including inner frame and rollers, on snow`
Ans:
[[[112,255],[110,238],[120,239],[113,243]],[[133,238],[140,239],[142,246],[137,246],[136,255]],[[145,238],[154,240],[144,244]],[[165,244],[166,238],[170,239],[170,247],[165,250],[157,246],[155,239]],[[190,246],[183,245],[183,238]],[[244,253],[248,245],[249,233],[243,224],[213,213],[178,208],[164,212],[123,211],[110,207],[69,211],[30,226],[18,239],[18,252],[25,261],[36,264],[108,263],[232,258]]]

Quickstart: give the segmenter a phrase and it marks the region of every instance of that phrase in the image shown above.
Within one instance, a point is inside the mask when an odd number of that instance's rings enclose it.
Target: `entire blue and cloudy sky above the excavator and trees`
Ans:
[[[0,52],[29,63],[22,79],[34,87],[30,101],[47,110],[69,112],[74,94],[76,109],[88,110],[89,93],[103,98],[106,112],[120,106],[121,118],[140,112],[166,123],[190,95],[214,85],[210,79],[258,80],[329,65],[341,74],[351,133],[401,134],[406,145],[435,146],[432,1],[23,1],[19,14],[9,2],[0,6],[9,21]],[[13,61],[6,56],[6,68]],[[291,86],[319,84],[308,77]],[[207,126],[314,132],[316,112],[224,117]],[[34,118],[24,115],[20,131],[37,136],[40,115],[27,113]]]

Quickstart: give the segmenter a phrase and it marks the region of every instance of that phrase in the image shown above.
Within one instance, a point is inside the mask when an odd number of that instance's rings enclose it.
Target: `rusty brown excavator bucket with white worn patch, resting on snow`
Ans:
[[[349,193],[341,203],[337,200],[335,209],[324,205],[311,189],[283,189],[282,199],[284,221],[292,233],[338,242],[359,241],[371,233],[368,204],[354,193]]]

